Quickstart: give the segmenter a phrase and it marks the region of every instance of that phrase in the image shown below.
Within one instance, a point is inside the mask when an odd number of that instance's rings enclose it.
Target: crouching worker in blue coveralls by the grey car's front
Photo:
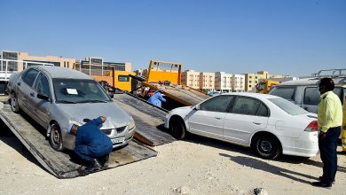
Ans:
[[[75,154],[89,163],[86,171],[94,171],[108,167],[109,153],[112,152],[113,144],[98,126],[106,121],[106,117],[88,121],[83,126],[74,123],[69,124],[68,133],[75,136]]]

